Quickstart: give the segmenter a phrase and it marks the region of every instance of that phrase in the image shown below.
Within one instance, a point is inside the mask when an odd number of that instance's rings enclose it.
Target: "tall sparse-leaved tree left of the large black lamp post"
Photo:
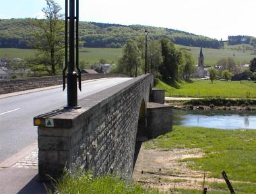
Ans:
[[[53,0],[46,0],[42,9],[44,20],[33,19],[31,25],[36,28],[29,45],[37,49],[36,57],[30,63],[42,67],[49,75],[56,75],[63,65],[65,22],[61,20],[61,7]]]

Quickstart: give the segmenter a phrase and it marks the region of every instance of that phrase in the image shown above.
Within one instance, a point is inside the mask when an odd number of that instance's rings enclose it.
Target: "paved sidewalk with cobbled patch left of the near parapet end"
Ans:
[[[47,183],[46,187],[51,188]],[[38,179],[37,143],[0,163],[1,194],[45,194]]]

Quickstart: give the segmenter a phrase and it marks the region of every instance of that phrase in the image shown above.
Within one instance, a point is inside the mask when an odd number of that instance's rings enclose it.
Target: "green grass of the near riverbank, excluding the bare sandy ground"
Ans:
[[[220,172],[225,170],[230,180],[247,181],[232,183],[236,193],[256,193],[256,130],[174,126],[172,132],[148,141],[146,148],[199,148],[205,153],[203,158],[189,158],[181,162],[188,162],[189,168],[210,172],[207,174],[208,177],[222,179]],[[224,183],[214,182],[206,185],[214,189],[209,193],[228,193]]]

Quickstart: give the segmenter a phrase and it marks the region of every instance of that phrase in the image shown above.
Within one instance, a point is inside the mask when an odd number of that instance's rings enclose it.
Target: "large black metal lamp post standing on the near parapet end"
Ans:
[[[63,90],[65,90],[65,78],[67,78],[67,106],[65,108],[81,108],[77,105],[77,78],[81,91],[81,71],[78,67],[78,25],[79,0],[65,0],[65,67],[63,69]],[[75,72],[75,66],[78,74]],[[65,75],[66,70],[68,71],[67,75]]]

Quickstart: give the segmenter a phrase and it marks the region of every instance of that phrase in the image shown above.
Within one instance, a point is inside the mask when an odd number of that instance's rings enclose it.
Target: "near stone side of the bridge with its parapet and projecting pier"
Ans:
[[[64,167],[131,176],[139,142],[172,130],[171,107],[149,103],[164,97],[152,86],[153,76],[141,75],[79,100],[80,109],[35,117],[40,179]]]

